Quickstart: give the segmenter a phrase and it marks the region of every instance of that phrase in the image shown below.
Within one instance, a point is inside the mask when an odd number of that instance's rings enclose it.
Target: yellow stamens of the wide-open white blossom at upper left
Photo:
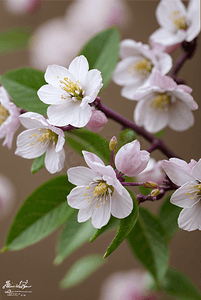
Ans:
[[[84,96],[84,90],[80,84],[79,80],[76,80],[76,82],[73,82],[71,79],[68,79],[67,77],[64,77],[64,80],[60,80],[60,83],[63,84],[63,86],[60,85],[60,88],[62,90],[68,92],[71,96],[71,98],[76,98],[76,100],[82,100]],[[63,95],[61,96],[62,99],[66,99]]]

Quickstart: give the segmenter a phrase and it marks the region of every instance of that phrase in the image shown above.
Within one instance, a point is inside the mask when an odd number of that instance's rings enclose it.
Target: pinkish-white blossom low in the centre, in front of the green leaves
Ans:
[[[82,151],[89,166],[70,168],[68,180],[77,185],[67,196],[68,204],[79,209],[78,222],[91,218],[95,228],[106,225],[111,214],[116,218],[127,217],[133,209],[128,191],[116,178],[111,166],[105,166],[95,154]]]

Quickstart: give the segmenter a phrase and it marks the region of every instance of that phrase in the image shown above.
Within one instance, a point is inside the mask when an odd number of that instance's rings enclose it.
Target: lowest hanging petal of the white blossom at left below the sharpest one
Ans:
[[[55,151],[55,146],[50,143],[46,149],[45,167],[51,173],[60,172],[64,167],[65,151],[61,149],[59,152]]]

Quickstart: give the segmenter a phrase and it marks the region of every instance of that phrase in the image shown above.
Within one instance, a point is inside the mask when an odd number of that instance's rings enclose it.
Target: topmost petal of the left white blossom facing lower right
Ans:
[[[28,128],[47,128],[47,120],[40,114],[27,112],[19,116],[21,124]]]

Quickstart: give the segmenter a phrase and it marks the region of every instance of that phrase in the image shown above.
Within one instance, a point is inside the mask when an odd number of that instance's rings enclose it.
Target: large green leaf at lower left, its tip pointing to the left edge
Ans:
[[[66,196],[74,186],[67,176],[53,178],[39,186],[22,204],[6,240],[9,250],[23,249],[52,233],[74,210]]]

